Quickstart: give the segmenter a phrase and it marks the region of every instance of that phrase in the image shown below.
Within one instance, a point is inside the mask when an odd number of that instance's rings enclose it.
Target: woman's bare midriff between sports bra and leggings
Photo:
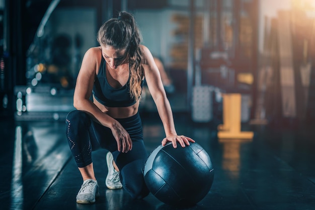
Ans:
[[[139,100],[128,107],[107,107],[98,102],[93,97],[94,104],[104,113],[108,114],[109,116],[118,119],[118,118],[127,118],[135,115],[138,112],[139,108]]]

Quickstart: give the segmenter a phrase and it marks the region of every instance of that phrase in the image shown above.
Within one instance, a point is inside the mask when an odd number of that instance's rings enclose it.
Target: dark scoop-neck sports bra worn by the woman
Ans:
[[[130,74],[129,74],[130,75]],[[106,62],[102,56],[99,73],[94,81],[93,95],[95,99],[107,107],[128,107],[136,103],[136,100],[130,96],[129,81],[121,88],[113,88],[108,84],[106,78]],[[143,86],[143,80],[141,88]]]

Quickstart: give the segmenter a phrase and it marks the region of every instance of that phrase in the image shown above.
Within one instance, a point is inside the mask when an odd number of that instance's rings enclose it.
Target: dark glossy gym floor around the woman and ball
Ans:
[[[159,146],[164,130],[155,114],[142,114],[147,151]],[[244,125],[252,141],[216,137],[215,126],[175,114],[178,133],[194,138],[211,157],[215,176],[197,205],[181,209],[315,209],[313,125]],[[0,209],[177,209],[149,194],[133,200],[105,186],[105,150],[93,154],[100,197],[77,204],[82,178],[70,155],[61,121],[0,122]]]

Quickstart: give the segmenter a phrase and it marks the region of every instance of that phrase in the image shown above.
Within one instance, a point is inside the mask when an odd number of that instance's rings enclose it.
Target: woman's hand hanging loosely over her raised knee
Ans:
[[[117,142],[117,150],[123,153],[130,151],[132,149],[132,141],[125,128],[117,122],[113,125],[111,130]]]

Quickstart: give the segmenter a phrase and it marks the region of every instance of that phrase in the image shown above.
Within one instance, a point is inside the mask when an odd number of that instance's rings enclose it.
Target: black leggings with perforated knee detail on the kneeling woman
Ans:
[[[139,113],[116,119],[127,130],[132,150],[121,153],[110,128],[91,119],[84,111],[74,110],[66,117],[66,136],[77,167],[92,163],[92,151],[103,148],[113,154],[120,171],[120,181],[133,198],[143,198],[149,191],[144,183],[142,169],[148,154],[143,144],[142,123]]]

